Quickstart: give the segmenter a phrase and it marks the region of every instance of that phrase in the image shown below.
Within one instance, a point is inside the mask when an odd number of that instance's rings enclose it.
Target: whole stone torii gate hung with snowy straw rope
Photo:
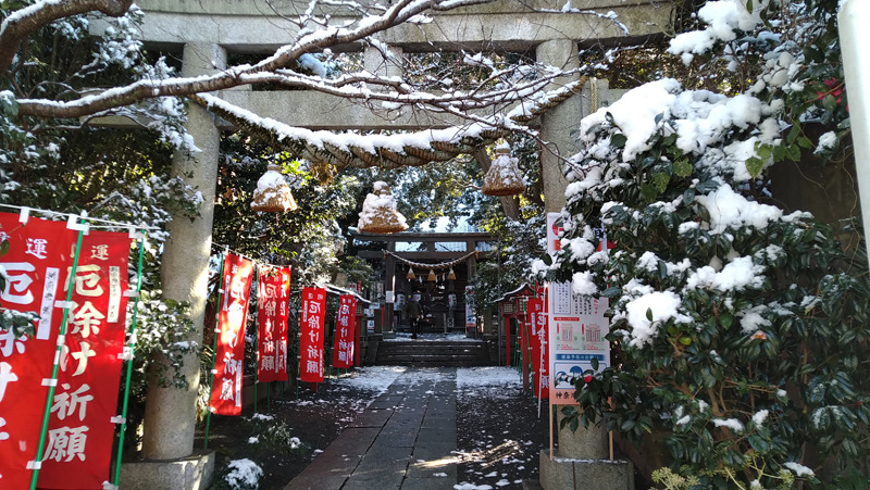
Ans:
[[[233,53],[274,51],[297,34],[295,27],[270,7],[274,2],[266,0],[139,0],[137,3],[146,12],[142,41],[146,46],[181,52],[184,76],[225,68],[227,56]],[[290,5],[294,0],[278,3]],[[297,11],[304,11],[308,2],[298,3]],[[378,37],[399,55],[460,49],[475,52],[498,46],[514,52],[533,52],[542,63],[574,68],[579,66],[581,42],[637,41],[661,33],[669,23],[671,10],[668,1],[574,0],[574,8],[614,12],[631,33],[630,38],[606,16],[560,12],[563,3],[563,0],[487,3],[440,12],[428,24],[401,25],[380,33]],[[99,23],[92,28],[99,32]],[[346,49],[363,51],[365,68],[371,73],[390,75],[400,70],[374,48],[348,46]],[[593,98],[593,93],[597,96]],[[461,123],[419,113],[386,118],[344,99],[308,91],[253,91],[245,86],[215,96],[260,116],[309,129],[420,129]],[[582,116],[589,113],[591,106],[614,98],[616,93],[610,92],[606,84],[586,84],[582,93],[568,98],[535,122],[549,150],[540,152],[547,211],[559,211],[564,204],[566,181],[560,161],[576,151],[571,131],[579,126]],[[171,240],[163,255],[164,296],[190,302],[197,327],[191,340],[197,341],[202,337],[207,299],[221,124],[212,113],[189,104],[187,129],[201,151],[189,158],[177,155],[174,173],[189,175],[188,184],[198,188],[204,202],[198,219],[192,223],[176,219],[171,224]],[[211,460],[194,451],[194,414],[199,386],[199,362],[195,355],[185,359],[182,372],[189,381],[188,390],[163,388],[156,381],[149,388],[142,438],[142,455],[147,461],[122,470],[124,488],[200,488],[207,485]],[[597,450],[572,449],[571,454],[563,455],[601,457]]]

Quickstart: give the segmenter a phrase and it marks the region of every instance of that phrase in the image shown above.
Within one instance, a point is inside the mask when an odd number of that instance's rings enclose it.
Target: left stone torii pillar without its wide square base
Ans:
[[[217,45],[188,43],[184,48],[184,76],[197,76],[225,67],[226,53]],[[178,153],[175,175],[202,193],[200,217],[178,216],[170,224],[170,240],[163,252],[161,279],[164,298],[189,301],[195,332],[187,340],[202,341],[211,255],[214,189],[217,178],[220,131],[214,116],[196,104],[188,104],[187,130],[201,150],[189,156]],[[148,460],[177,460],[194,452],[196,398],[199,387],[199,359],[185,357],[182,373],[189,388],[161,388],[156,379],[148,389],[145,412],[142,455]]]

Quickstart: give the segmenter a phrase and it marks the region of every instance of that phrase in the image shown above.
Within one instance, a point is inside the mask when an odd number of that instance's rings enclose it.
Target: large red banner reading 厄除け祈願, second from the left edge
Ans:
[[[110,479],[129,246],[121,233],[89,231],[82,239],[39,488],[102,489]]]

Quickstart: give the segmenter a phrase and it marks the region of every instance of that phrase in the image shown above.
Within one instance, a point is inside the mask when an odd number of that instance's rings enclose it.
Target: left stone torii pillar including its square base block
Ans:
[[[226,51],[220,45],[185,45],[183,76],[211,74],[225,67]],[[196,104],[188,104],[187,130],[200,151],[189,156],[178,152],[172,173],[184,176],[188,185],[201,192],[202,204],[199,217],[192,222],[185,216],[173,217],[169,226],[170,240],[163,249],[161,280],[164,298],[190,303],[194,332],[178,340],[201,345],[221,135],[214,116]],[[158,360],[161,361],[164,360]],[[158,377],[151,374],[141,451],[146,461],[122,466],[121,488],[206,489],[211,485],[214,453],[194,451],[199,365],[197,353],[184,357],[181,373],[187,379],[187,389],[161,387]],[[165,369],[172,375],[172,367]]]

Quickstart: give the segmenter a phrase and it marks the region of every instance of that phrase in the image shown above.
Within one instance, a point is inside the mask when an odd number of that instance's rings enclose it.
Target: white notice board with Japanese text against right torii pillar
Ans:
[[[570,282],[551,282],[548,291],[550,399],[572,404],[571,380],[592,369],[593,359],[598,370],[610,365],[610,344],[605,339],[607,298],[573,294]]]

